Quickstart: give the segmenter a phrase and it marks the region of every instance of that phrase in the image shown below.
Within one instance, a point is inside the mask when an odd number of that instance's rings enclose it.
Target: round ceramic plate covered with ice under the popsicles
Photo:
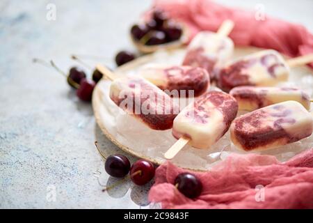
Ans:
[[[234,59],[239,56],[257,52],[261,49],[255,47],[236,48]],[[170,65],[182,64],[185,49],[174,49],[168,51],[155,52],[147,56],[142,56],[130,63],[121,66],[115,72],[118,75],[136,75],[136,70],[147,63],[161,63]],[[165,161],[164,153],[175,143],[171,130],[157,131],[151,130],[146,125],[136,120],[133,116],[127,115],[117,107],[109,98],[109,88],[111,82],[102,79],[96,86],[93,93],[93,110],[95,118],[102,132],[116,144],[122,151],[150,160],[155,164]],[[306,66],[291,69],[289,82],[280,84],[281,86],[296,86],[307,91],[312,96],[313,72]],[[239,112],[238,115],[244,112]],[[268,151],[256,152],[259,154],[275,155],[281,162],[289,160],[294,155],[313,148],[313,135],[293,144],[280,146]],[[248,153],[239,151],[230,141],[230,133],[227,132],[220,140],[209,149],[196,149],[185,146],[173,160],[174,164],[186,169],[195,171],[205,171],[214,164],[225,159],[231,153]]]

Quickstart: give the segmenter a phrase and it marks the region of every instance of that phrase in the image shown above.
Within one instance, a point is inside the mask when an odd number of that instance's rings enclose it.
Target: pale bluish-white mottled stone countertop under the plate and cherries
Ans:
[[[220,1],[298,22],[313,31],[313,1]],[[47,5],[56,20],[47,20]],[[150,185],[129,181],[109,192],[115,179],[93,142],[118,151],[95,123],[89,103],[77,99],[57,72],[34,57],[67,71],[71,54],[95,56],[90,66],[114,68],[119,49],[134,50],[128,32],[151,1],[17,1],[0,3],[0,208],[149,208]],[[90,74],[90,70],[85,68]],[[131,157],[131,160],[134,160]]]

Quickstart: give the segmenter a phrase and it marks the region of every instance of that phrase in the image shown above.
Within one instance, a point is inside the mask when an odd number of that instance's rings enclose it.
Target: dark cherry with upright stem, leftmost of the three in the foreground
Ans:
[[[106,173],[114,177],[123,177],[128,174],[130,162],[125,155],[115,154],[106,158]]]

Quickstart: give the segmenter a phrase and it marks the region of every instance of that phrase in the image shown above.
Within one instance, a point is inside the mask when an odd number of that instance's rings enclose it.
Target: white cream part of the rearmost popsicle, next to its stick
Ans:
[[[216,60],[216,66],[220,66],[232,56],[234,52],[234,43],[227,36],[220,36],[211,31],[199,32],[188,45],[188,51],[203,47],[204,55],[208,59]]]

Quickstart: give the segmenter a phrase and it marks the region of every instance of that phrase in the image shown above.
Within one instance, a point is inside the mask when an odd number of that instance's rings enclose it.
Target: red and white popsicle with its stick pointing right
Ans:
[[[266,49],[230,63],[218,72],[218,86],[230,91],[235,86],[274,86],[287,81],[289,66],[300,66],[313,61],[313,54],[284,61],[273,49]]]

